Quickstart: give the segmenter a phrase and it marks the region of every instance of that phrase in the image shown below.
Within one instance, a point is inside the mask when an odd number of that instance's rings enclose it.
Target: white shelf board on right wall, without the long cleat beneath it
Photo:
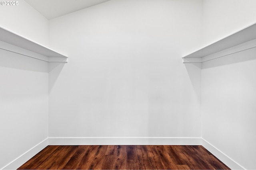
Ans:
[[[205,60],[203,59],[206,56],[213,55],[215,53],[219,53],[220,51],[225,51],[226,49],[230,49],[234,46],[238,46],[240,44],[246,43],[248,41],[256,39],[256,24],[250,25],[245,29],[232,33],[210,45],[206,45],[201,49],[194,51],[188,55],[185,55],[183,58],[184,63],[201,63]],[[218,55],[218,57],[222,57]],[[216,58],[218,58],[216,57]],[[188,59],[191,58],[191,59]],[[201,62],[198,59],[194,58],[202,58]]]

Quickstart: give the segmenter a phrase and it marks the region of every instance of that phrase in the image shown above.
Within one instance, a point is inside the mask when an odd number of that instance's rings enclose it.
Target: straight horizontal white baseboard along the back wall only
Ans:
[[[201,138],[88,137],[48,138],[49,145],[201,145]]]

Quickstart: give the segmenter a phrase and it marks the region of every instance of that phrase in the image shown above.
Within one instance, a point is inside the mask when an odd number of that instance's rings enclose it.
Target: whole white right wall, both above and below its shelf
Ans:
[[[256,1],[205,0],[204,42],[255,23]],[[256,49],[202,63],[202,138],[256,169]]]

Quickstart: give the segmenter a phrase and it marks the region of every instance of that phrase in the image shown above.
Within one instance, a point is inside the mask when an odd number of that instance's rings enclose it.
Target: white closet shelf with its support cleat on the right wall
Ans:
[[[183,58],[183,63],[202,63],[256,47],[256,24],[232,33]]]

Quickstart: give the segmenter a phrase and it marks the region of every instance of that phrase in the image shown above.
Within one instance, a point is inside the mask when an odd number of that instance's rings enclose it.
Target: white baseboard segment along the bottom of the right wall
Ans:
[[[214,156],[216,156],[219,160],[221,160],[224,164],[226,164],[232,170],[242,170],[245,169],[243,166],[238,164],[236,161],[232,160],[226,154],[221,152],[219,149],[214,147],[212,144],[207,142],[205,139],[202,138],[202,146],[211,152]]]

